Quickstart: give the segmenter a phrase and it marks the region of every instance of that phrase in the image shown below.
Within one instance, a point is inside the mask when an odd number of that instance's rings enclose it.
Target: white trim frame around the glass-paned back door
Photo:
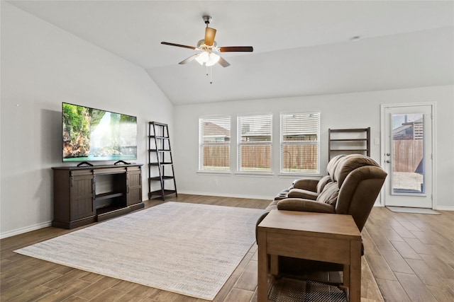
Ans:
[[[431,185],[431,190],[432,190],[432,209],[437,208],[437,198],[436,198],[436,187],[437,187],[437,180],[436,180],[436,168],[437,168],[437,156],[436,156],[436,142],[437,142],[437,137],[436,137],[436,102],[423,102],[423,103],[397,103],[397,104],[380,104],[380,165],[382,167],[385,166],[385,150],[384,150],[384,142],[387,139],[387,134],[385,133],[385,113],[384,110],[385,108],[399,108],[399,107],[411,107],[411,106],[431,106],[431,111],[432,111],[432,118],[431,118],[431,127],[432,127],[432,149],[431,149],[431,156],[432,156],[432,173],[431,173],[431,178],[432,178],[432,185]],[[388,176],[389,177],[389,176]],[[382,190],[380,192],[380,204],[382,207],[385,207],[385,186],[382,187]]]

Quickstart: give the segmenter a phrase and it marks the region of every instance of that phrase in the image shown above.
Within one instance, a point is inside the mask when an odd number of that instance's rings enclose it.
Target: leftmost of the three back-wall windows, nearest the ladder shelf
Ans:
[[[199,169],[230,170],[230,117],[199,119]]]

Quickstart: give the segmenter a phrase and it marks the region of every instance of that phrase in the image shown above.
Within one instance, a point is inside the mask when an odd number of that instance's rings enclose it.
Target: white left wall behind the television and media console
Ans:
[[[52,221],[62,102],[137,116],[138,163],[148,121],[172,124],[172,104],[143,69],[1,1],[2,238]]]

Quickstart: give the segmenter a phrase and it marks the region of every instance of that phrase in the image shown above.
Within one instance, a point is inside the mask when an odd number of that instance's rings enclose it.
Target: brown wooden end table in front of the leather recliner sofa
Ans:
[[[350,302],[361,299],[361,233],[350,215],[272,210],[258,225],[258,302],[267,301],[268,257],[340,263]]]

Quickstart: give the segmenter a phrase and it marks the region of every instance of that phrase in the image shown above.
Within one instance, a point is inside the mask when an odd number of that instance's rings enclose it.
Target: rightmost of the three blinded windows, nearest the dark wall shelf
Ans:
[[[319,173],[320,113],[281,115],[281,173]]]

